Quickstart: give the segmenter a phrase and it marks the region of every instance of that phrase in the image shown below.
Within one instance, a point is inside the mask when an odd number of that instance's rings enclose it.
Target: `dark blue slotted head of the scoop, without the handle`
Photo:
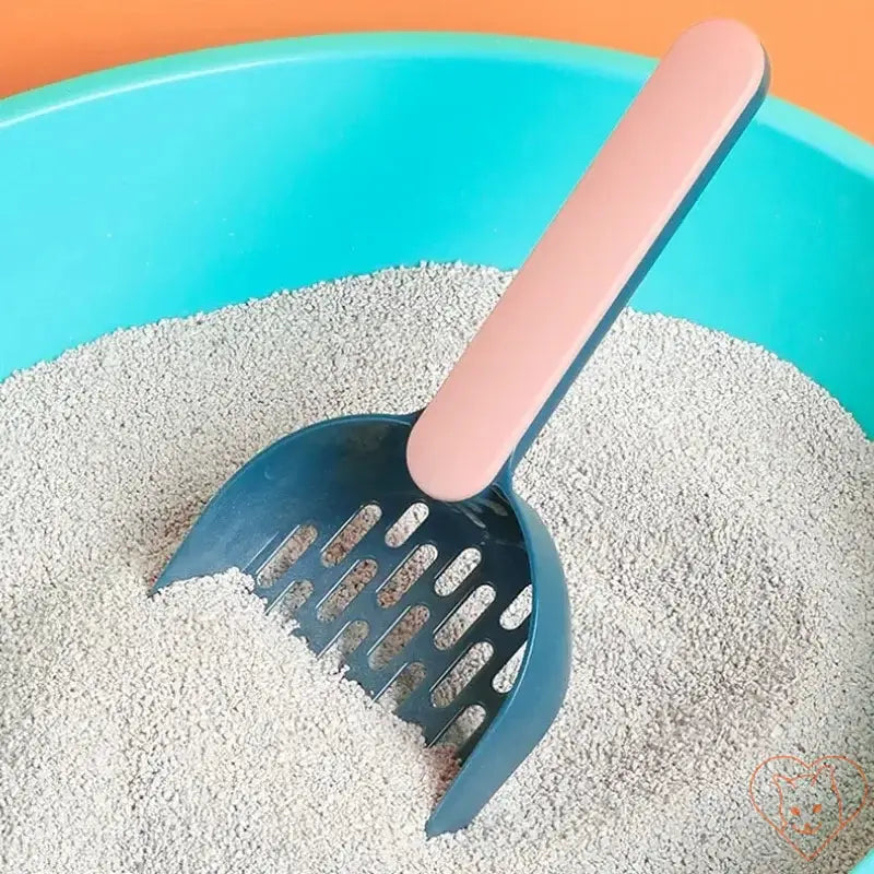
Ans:
[[[316,653],[335,645],[351,680],[398,700],[428,745],[454,739],[462,767],[435,835],[468,825],[552,723],[569,611],[552,541],[509,483],[462,504],[416,487],[415,418],[333,420],[273,444],[210,501],[155,590],[239,568]]]

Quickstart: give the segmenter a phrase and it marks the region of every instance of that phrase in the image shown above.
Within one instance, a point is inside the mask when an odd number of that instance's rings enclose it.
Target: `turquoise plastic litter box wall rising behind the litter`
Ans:
[[[354,35],[0,102],[0,378],[280,287],[519,264],[649,69],[538,40]],[[874,434],[872,225],[874,149],[769,101],[634,306],[763,343]]]

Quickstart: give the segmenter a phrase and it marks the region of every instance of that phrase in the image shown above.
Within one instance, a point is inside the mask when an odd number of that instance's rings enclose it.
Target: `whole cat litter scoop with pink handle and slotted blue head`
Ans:
[[[466,725],[429,835],[473,819],[567,688],[565,578],[548,532],[513,492],[513,470],[767,79],[742,25],[682,35],[430,404],[322,422],[264,449],[210,501],[155,583],[237,567],[268,609],[295,599],[297,633],[319,654],[342,645],[347,676],[370,696],[403,688],[397,712],[427,744]],[[520,656],[507,690],[498,681]]]

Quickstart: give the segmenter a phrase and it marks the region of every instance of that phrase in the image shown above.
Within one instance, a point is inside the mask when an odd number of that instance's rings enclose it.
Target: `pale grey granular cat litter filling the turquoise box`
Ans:
[[[3,874],[846,872],[874,845],[863,805],[806,861],[817,839],[793,849],[749,792],[773,756],[874,776],[874,444],[722,334],[624,314],[521,465],[567,571],[571,682],[462,834],[423,837],[447,756],[241,575],[146,599],[239,464],[423,405],[509,279],[387,270],[0,385]]]

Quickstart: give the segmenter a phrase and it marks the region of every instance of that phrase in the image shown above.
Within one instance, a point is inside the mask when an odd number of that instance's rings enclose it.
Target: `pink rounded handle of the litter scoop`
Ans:
[[[406,462],[425,494],[494,481],[766,75],[736,22],[674,43],[416,420]]]

